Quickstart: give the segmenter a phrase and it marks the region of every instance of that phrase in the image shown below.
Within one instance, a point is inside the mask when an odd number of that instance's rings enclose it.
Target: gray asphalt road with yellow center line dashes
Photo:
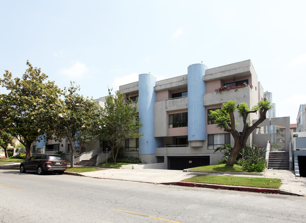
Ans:
[[[9,169],[0,195],[5,223],[306,222],[305,197]]]

